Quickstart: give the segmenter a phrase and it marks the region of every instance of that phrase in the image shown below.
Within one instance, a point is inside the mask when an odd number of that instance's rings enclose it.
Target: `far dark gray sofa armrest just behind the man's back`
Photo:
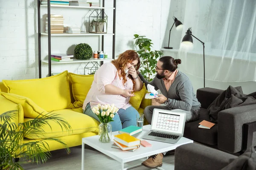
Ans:
[[[207,109],[209,105],[221,94],[223,90],[216,88],[199,88],[196,91],[196,98],[201,103],[201,107]]]

